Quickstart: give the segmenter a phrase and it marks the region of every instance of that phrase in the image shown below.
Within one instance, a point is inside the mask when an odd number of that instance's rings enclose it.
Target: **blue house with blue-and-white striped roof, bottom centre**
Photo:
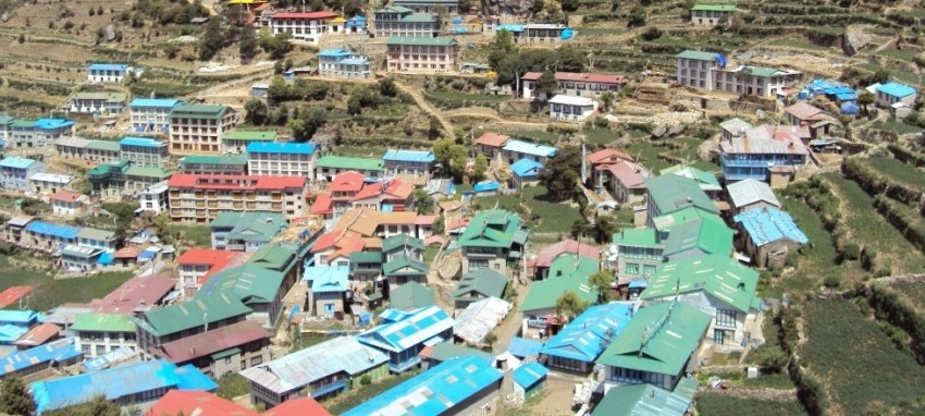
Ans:
[[[454,323],[443,309],[430,306],[360,333],[357,340],[387,354],[392,372],[403,372],[421,363],[419,354],[425,346],[452,340]]]

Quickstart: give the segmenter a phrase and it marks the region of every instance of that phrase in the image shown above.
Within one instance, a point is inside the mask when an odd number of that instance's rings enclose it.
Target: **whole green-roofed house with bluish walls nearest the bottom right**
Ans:
[[[671,390],[696,369],[710,315],[666,302],[639,309],[596,363],[607,386],[649,383]]]

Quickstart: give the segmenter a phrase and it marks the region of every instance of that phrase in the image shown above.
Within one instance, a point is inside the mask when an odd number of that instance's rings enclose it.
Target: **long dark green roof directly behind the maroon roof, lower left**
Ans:
[[[166,335],[249,313],[250,308],[236,296],[225,293],[208,296],[197,294],[192,301],[153,309],[132,320],[155,335]]]

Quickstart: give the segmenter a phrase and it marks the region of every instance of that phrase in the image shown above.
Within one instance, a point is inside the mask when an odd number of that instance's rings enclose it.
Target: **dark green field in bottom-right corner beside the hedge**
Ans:
[[[813,301],[803,316],[809,341],[800,354],[828,381],[844,414],[864,414],[873,401],[893,405],[922,395],[925,368],[850,302]]]

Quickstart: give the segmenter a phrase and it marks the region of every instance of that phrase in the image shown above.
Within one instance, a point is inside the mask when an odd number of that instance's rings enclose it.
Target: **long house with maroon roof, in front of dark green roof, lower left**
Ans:
[[[161,344],[150,353],[177,366],[192,364],[218,380],[269,362],[271,337],[257,321],[246,320]]]

